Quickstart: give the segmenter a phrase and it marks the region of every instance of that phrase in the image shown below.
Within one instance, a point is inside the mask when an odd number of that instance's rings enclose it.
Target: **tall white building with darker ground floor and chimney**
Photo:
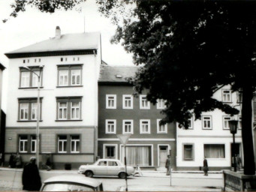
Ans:
[[[101,34],[61,34],[8,52],[6,160],[36,153],[38,75],[40,78],[40,162],[52,154],[55,168],[95,161]],[[67,166],[68,167],[68,166]]]

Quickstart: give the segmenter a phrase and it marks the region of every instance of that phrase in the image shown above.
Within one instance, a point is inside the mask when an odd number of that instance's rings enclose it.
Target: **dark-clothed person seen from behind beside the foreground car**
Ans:
[[[35,160],[35,157],[30,157],[29,163],[24,166],[22,178],[23,190],[40,190],[41,188],[41,176]]]

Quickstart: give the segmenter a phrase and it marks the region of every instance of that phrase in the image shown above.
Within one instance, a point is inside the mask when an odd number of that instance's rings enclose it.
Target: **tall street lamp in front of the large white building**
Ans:
[[[38,165],[38,168],[39,168],[39,113],[40,113],[40,110],[39,110],[39,106],[40,106],[40,86],[41,86],[41,83],[40,83],[40,79],[41,79],[41,70],[42,68],[44,68],[42,65],[39,66],[39,75],[36,74],[34,71],[32,71],[31,68],[27,67],[27,66],[23,66],[23,68],[26,68],[27,70],[31,71],[33,74],[35,74],[37,77],[38,77],[38,104],[37,104],[37,107],[38,107],[38,112],[37,112],[37,127],[36,127],[36,143],[37,143],[37,148],[36,148],[36,158],[37,158],[37,165]]]

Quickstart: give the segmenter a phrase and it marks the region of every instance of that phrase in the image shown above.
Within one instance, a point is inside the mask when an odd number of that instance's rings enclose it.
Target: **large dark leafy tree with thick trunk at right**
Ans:
[[[44,12],[72,9],[78,1],[16,1],[14,12],[34,5]],[[45,6],[42,6],[43,3]],[[113,42],[122,42],[143,65],[131,80],[147,99],[166,101],[161,123],[215,109],[235,115],[234,107],[212,98],[223,86],[242,93],[244,173],[254,175],[251,100],[256,86],[256,1],[98,0],[99,10],[116,24]],[[125,9],[128,8],[128,11]]]

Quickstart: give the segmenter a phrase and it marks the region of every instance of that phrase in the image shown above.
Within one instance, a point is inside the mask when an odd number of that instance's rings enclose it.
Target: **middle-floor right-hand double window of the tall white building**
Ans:
[[[81,120],[82,97],[56,98],[57,120]]]

